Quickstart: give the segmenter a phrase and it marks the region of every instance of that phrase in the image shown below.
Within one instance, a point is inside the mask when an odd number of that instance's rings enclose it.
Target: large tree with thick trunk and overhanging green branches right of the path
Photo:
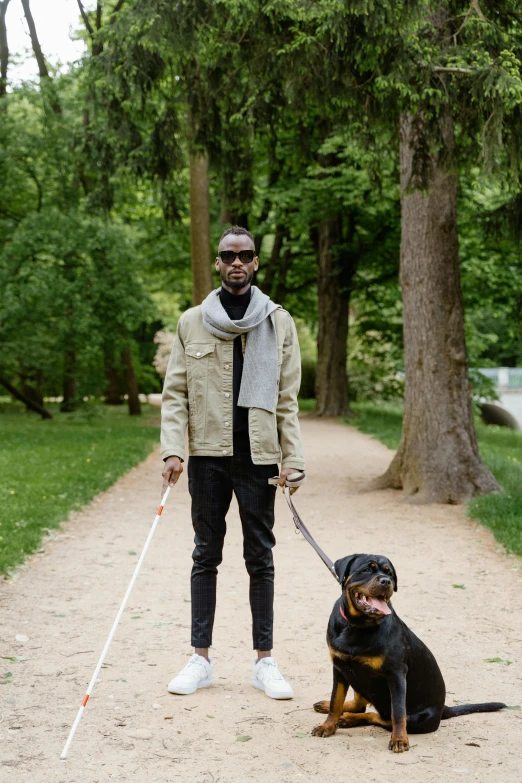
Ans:
[[[480,461],[471,414],[455,175],[491,149],[488,142],[501,138],[508,117],[506,139],[516,147],[520,12],[514,2],[484,5],[491,22],[476,2],[346,9],[324,0],[300,23],[301,35],[304,28],[319,36],[329,86],[342,91],[346,115],[400,130],[405,428],[377,485],[403,487],[416,502],[462,502],[497,487]],[[429,333],[418,328],[424,308]],[[439,366],[445,383],[434,384]]]

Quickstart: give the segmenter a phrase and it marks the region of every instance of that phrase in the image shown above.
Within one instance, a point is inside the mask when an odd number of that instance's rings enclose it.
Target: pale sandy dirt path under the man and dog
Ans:
[[[311,480],[296,500],[324,549],[333,559],[351,552],[391,557],[399,575],[394,606],[438,658],[448,704],[520,704],[519,561],[496,551],[489,533],[466,521],[460,508],[412,507],[394,492],[358,494],[390,452],[336,423],[302,423]],[[311,705],[330,694],[325,629],[338,587],[294,534],[282,495],[275,656],[294,700],[272,701],[250,685],[247,576],[235,507],[219,577],[215,684],[193,696],[168,694],[166,683],[190,653],[186,474],[161,519],[69,758],[60,762],[154,518],[159,465],[156,453],[131,470],[47,539],[27,570],[0,583],[0,675],[12,673],[0,687],[2,780],[522,781],[522,712],[445,721],[435,734],[413,736],[412,750],[400,756],[388,752],[388,735],[378,728],[309,736],[318,722]],[[27,660],[8,660],[16,656]],[[251,739],[237,741],[245,735]]]

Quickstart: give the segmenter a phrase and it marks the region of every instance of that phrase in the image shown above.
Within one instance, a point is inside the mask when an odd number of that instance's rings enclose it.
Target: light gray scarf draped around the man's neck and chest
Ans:
[[[276,305],[253,285],[250,302],[243,318],[232,321],[219,298],[221,289],[212,291],[201,303],[203,324],[222,340],[248,335],[238,405],[275,412],[277,399],[277,336],[274,326]]]

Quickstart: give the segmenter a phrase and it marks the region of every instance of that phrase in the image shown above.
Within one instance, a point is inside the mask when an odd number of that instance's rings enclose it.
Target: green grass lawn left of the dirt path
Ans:
[[[50,420],[18,404],[0,406],[0,573],[145,459],[158,425],[159,411],[148,405],[141,417],[98,404]]]

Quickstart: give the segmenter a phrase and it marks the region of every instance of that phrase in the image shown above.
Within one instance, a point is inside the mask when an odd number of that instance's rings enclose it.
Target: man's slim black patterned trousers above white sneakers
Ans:
[[[210,647],[216,610],[217,568],[222,560],[226,514],[234,492],[243,528],[243,557],[250,575],[254,650],[271,650],[274,625],[274,501],[268,479],[278,466],[254,465],[249,453],[190,457],[189,492],[195,549],[192,553],[192,646]]]

